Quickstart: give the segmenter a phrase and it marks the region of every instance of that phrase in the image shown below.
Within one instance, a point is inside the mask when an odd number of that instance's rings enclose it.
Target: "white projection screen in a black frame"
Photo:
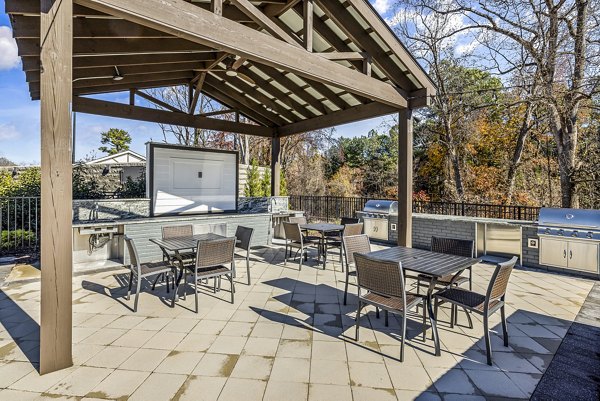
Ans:
[[[238,153],[149,143],[152,215],[237,211]]]

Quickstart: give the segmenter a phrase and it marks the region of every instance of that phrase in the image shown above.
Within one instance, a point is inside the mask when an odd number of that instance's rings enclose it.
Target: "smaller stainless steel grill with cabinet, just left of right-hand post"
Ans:
[[[369,238],[380,241],[398,239],[398,202],[370,200],[356,216],[364,223],[364,232]]]

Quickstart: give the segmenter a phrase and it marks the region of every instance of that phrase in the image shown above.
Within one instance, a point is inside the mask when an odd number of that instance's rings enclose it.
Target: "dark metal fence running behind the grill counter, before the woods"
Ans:
[[[303,210],[315,220],[338,220],[354,216],[365,203],[373,198],[342,196],[290,196],[290,209]],[[491,205],[463,202],[414,201],[414,213],[445,214],[450,216],[486,217],[509,220],[534,221],[540,208],[533,206]]]

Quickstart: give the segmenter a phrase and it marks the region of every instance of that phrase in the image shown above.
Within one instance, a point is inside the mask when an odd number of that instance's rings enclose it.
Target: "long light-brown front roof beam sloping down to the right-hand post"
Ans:
[[[293,72],[373,101],[408,105],[398,88],[304,49],[195,7],[183,0],[76,0],[78,4],[149,28]]]

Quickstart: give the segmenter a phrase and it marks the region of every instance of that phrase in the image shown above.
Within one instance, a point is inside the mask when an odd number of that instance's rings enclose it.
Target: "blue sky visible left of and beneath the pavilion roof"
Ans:
[[[370,0],[384,16],[390,12],[391,0]],[[10,20],[5,13],[4,0],[0,0],[0,156],[19,164],[39,164],[40,160],[40,109],[39,101],[32,101],[16,56],[11,37]],[[120,93],[104,98],[111,101],[127,101],[128,94]],[[377,128],[383,119],[365,120],[336,127],[337,136],[364,135]],[[79,113],[75,156],[81,159],[96,153],[100,146],[100,133],[109,128],[127,130],[132,136],[131,149],[144,154],[144,143],[149,140],[162,141],[163,134],[158,124],[133,120],[92,116]]]

